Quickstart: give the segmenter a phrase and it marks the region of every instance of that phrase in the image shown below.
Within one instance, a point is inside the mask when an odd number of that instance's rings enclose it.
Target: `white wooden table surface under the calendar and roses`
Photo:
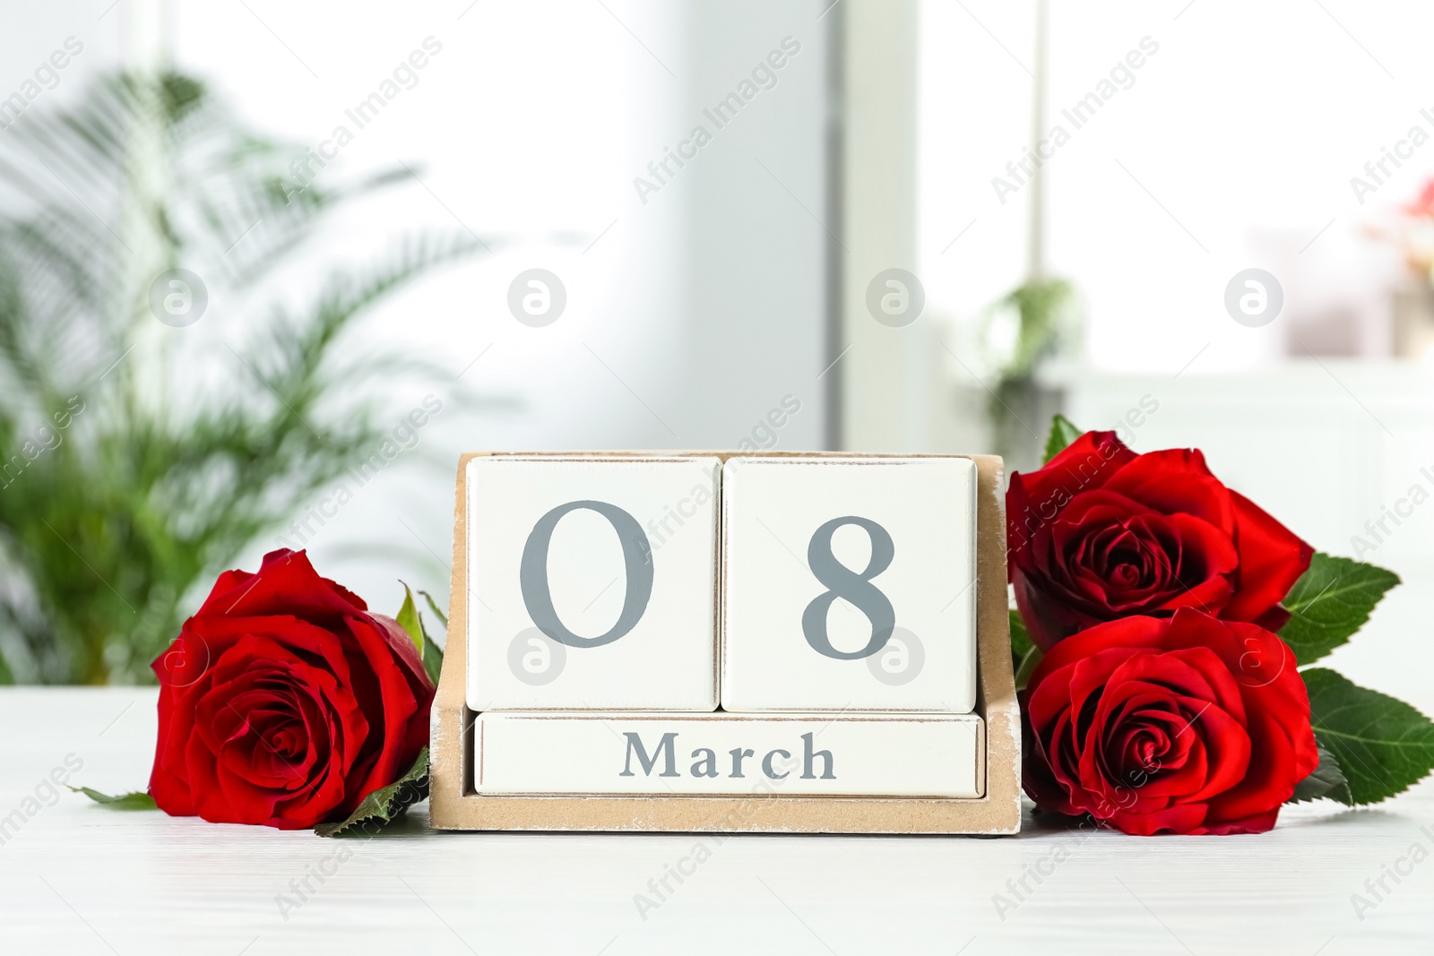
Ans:
[[[155,695],[0,689],[0,817],[69,754],[77,783],[142,788]],[[1434,952],[1434,860],[1384,876],[1411,844],[1434,857],[1430,784],[1374,810],[1292,808],[1255,837],[1083,838],[1030,817],[988,840],[440,834],[426,820],[419,807],[336,841],[66,791],[4,831],[0,953]],[[697,844],[710,859],[681,863]],[[680,863],[691,874],[658,900],[650,881]],[[1030,871],[1041,881],[1017,902],[1008,880]],[[1391,892],[1361,920],[1351,894],[1381,876]],[[314,892],[281,912],[305,879]],[[657,907],[640,914],[640,893]],[[998,913],[997,893],[1015,909]]]

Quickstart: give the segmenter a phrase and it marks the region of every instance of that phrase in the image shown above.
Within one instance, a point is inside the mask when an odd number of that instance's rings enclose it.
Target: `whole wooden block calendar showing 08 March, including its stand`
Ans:
[[[999,470],[463,456],[433,826],[1014,833]]]

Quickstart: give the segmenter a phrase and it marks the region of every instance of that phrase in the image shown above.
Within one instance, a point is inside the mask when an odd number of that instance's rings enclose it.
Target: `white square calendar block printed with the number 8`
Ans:
[[[975,464],[733,457],[727,711],[975,707]]]

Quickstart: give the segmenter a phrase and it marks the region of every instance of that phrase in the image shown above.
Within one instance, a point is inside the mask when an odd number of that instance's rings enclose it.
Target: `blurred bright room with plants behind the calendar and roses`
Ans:
[[[1434,708],[1427,4],[3,9],[3,681],[280,546],[443,603],[463,450],[1064,411],[1397,570],[1335,666]]]

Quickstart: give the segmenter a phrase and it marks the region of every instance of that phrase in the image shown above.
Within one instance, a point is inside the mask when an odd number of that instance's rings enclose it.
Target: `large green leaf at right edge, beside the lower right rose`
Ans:
[[[1434,722],[1328,668],[1301,671],[1315,740],[1339,761],[1352,804],[1378,803],[1434,768]]]

